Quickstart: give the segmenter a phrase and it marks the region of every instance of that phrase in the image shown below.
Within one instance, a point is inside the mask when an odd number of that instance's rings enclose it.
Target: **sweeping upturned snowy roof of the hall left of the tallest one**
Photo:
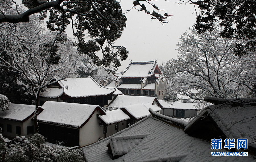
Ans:
[[[62,94],[69,97],[89,97],[108,95],[116,89],[115,87],[103,87],[90,76],[87,78],[65,78],[58,83],[61,88],[48,88],[40,93],[40,97],[57,98]]]

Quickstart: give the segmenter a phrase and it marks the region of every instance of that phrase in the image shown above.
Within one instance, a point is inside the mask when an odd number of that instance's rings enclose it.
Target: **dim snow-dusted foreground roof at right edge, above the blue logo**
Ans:
[[[211,117],[227,138],[247,138],[248,146],[256,148],[256,106],[211,105],[194,117],[185,131],[195,130],[194,126],[205,117]]]

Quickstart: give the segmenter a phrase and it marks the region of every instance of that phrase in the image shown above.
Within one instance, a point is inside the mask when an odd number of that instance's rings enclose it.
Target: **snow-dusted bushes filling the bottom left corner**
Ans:
[[[16,141],[16,143],[6,144],[2,134],[0,134],[0,155],[2,155],[1,161],[3,162],[85,161],[81,149],[76,149],[69,152],[68,148],[63,148],[61,146],[48,146],[46,145],[45,138],[38,133],[34,134],[32,137],[28,139],[24,137],[20,138],[17,136],[15,139],[11,141]]]

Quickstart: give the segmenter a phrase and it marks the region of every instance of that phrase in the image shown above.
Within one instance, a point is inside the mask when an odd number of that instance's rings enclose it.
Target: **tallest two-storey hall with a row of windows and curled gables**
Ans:
[[[132,62],[123,72],[113,74],[116,78],[106,78],[103,86],[117,87],[125,95],[156,96],[163,99],[167,80],[162,77],[156,60]]]

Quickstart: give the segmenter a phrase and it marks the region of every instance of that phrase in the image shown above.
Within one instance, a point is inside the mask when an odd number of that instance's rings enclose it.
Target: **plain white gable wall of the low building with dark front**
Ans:
[[[79,129],[80,146],[86,146],[97,142],[99,138],[104,138],[103,127],[99,127],[97,114],[100,114],[99,110],[96,110],[89,121]]]

